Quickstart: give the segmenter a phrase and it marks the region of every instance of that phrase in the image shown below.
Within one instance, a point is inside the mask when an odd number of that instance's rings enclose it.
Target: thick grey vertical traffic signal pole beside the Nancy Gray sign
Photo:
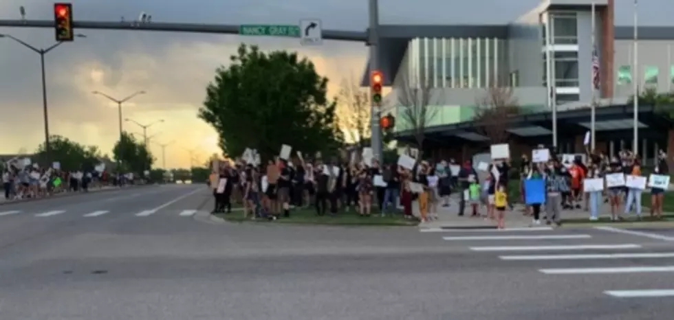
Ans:
[[[368,44],[370,46],[370,82],[373,82],[371,76],[374,72],[379,70],[379,3],[378,0],[369,0],[369,30],[368,30]],[[383,78],[383,77],[382,77]],[[373,83],[370,83],[370,88]],[[372,97],[373,94],[370,94]],[[370,110],[370,143],[374,157],[382,163],[382,129],[379,125],[381,116],[380,106],[374,100],[371,101]]]

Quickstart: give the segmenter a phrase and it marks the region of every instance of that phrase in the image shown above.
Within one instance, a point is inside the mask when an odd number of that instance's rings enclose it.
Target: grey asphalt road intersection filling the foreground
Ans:
[[[201,222],[211,205],[204,185],[1,205],[0,319],[669,320],[674,311],[673,296],[618,297],[674,290],[671,229]]]

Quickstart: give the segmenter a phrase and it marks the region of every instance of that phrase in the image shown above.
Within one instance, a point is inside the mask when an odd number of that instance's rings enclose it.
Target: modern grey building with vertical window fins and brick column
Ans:
[[[634,27],[614,25],[614,2],[545,0],[508,25],[382,25],[378,60],[384,84],[393,87],[384,108],[400,114],[409,88],[428,87],[434,116],[426,125],[424,154],[466,159],[490,141],[471,122],[476,106],[490,87],[510,87],[525,113],[508,120],[516,152],[552,144],[553,102],[561,152],[583,151],[578,139],[589,130],[587,106],[593,101],[599,105],[596,148],[611,153],[629,148],[633,112],[625,104],[634,85],[672,89],[674,27],[638,27],[633,72]],[[594,52],[598,89],[593,83]],[[367,72],[362,81],[367,85]],[[674,150],[674,131],[667,120],[652,106],[640,108],[637,140],[642,157],[652,161],[658,149]],[[399,140],[413,141],[404,117],[398,116],[395,131]]]

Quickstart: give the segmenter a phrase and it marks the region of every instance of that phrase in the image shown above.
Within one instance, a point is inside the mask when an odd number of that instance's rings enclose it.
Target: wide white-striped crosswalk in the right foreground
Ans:
[[[602,231],[603,230],[603,231]],[[569,277],[589,275],[594,277],[615,277],[610,286],[616,288],[598,288],[598,295],[605,297],[629,298],[657,298],[674,297],[674,283],[659,282],[659,288],[620,288],[621,279],[627,275],[646,275],[674,273],[674,243],[671,247],[660,246],[652,249],[645,244],[611,243],[615,238],[611,233],[603,234],[612,229],[595,228],[591,231],[556,231],[550,227],[536,227],[528,229],[421,229],[426,233],[442,232],[441,238],[454,245],[466,246],[476,254],[486,253],[495,255],[503,264],[525,262],[524,268],[535,268],[544,276]],[[671,238],[658,236],[655,233],[624,230],[614,231],[632,236],[645,236],[649,241],[672,241]],[[436,234],[437,236],[437,234]],[[609,240],[606,240],[609,238]],[[613,241],[611,241],[613,239]],[[631,239],[624,237],[624,239]],[[631,242],[620,240],[620,242]],[[671,252],[664,252],[670,248]],[[602,264],[602,262],[606,262]],[[536,266],[539,264],[539,266]],[[551,267],[552,266],[552,267]],[[613,278],[611,278],[612,280]],[[579,280],[582,281],[582,280]],[[602,284],[603,286],[603,284]],[[634,284],[632,284],[634,286]],[[668,288],[667,286],[672,286]]]

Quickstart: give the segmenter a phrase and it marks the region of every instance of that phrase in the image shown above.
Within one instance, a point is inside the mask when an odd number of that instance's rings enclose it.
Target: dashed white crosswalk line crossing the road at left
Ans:
[[[170,214],[172,216],[179,216],[179,217],[191,217],[197,214],[197,212],[199,212],[199,210],[196,209],[183,209],[183,210],[149,209],[149,210],[142,210],[139,212],[129,212],[121,210],[94,210],[91,212],[83,212],[82,210],[71,210],[71,211],[48,210],[43,212],[28,212],[28,211],[24,212],[21,210],[8,210],[8,211],[0,211],[0,218],[4,217],[9,218],[11,216],[32,216],[34,218],[52,218],[56,216],[67,216],[67,215],[78,216],[81,218],[97,218],[97,217],[110,216],[113,214],[124,214],[138,218],[146,218],[149,216],[157,216],[160,214],[161,215]]]

